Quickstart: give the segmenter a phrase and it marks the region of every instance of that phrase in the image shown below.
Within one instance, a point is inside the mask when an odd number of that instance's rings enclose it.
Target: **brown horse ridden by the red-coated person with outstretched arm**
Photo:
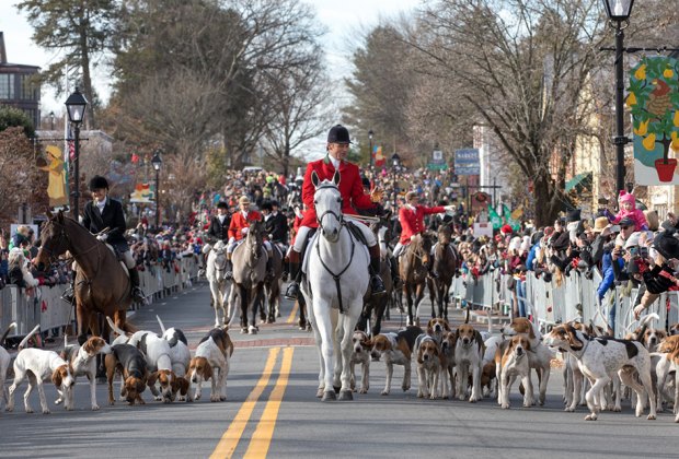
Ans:
[[[399,274],[403,281],[403,295],[407,302],[408,326],[419,326],[419,303],[424,298],[430,249],[431,240],[429,237],[418,234],[400,257]],[[415,305],[414,320],[413,305]]]

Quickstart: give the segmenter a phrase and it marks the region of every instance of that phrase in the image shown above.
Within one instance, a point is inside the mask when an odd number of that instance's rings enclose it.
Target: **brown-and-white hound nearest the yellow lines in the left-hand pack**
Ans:
[[[188,379],[196,385],[194,400],[200,399],[203,381],[207,379],[212,382],[210,401],[227,400],[227,376],[232,354],[233,343],[225,329],[214,328],[200,340],[188,365]]]

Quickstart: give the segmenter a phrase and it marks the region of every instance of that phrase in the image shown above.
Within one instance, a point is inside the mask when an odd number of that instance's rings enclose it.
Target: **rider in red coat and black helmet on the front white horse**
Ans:
[[[319,226],[317,222],[315,208],[313,205],[313,195],[315,188],[311,183],[311,173],[315,172],[319,180],[332,180],[335,170],[340,172],[340,192],[342,193],[343,207],[342,212],[348,215],[356,215],[356,209],[371,209],[379,207],[373,201],[381,199],[381,191],[373,190],[372,195],[364,192],[360,173],[356,164],[348,163],[345,157],[349,151],[349,131],[342,125],[334,126],[327,133],[327,155],[324,158],[309,163],[304,181],[302,185],[302,201],[308,210],[299,227],[299,232],[295,239],[295,245],[290,250],[290,285],[286,291],[286,298],[297,299],[299,294],[299,272],[300,272],[300,255],[307,240],[307,235],[311,228]],[[364,224],[356,224],[361,231],[368,249],[370,251],[370,271],[371,271],[371,290],[373,294],[382,294],[384,284],[379,276],[380,271],[380,247],[377,238],[370,228]]]

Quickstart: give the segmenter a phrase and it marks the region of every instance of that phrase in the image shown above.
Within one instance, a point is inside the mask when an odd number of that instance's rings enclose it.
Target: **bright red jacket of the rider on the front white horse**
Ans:
[[[304,181],[302,185],[302,202],[307,205],[308,210],[304,211],[301,226],[315,228],[319,226],[319,223],[317,222],[315,208],[313,205],[313,193],[315,192],[315,187],[311,183],[311,173],[313,170],[318,174],[320,181],[332,180],[335,174],[335,167],[327,155],[325,155],[323,160],[309,163],[307,166],[307,173],[304,174]],[[357,213],[354,208],[375,208],[375,203],[370,200],[370,196],[364,192],[364,185],[360,180],[360,173],[356,164],[347,163],[346,161],[340,163],[340,192],[344,200],[342,213],[356,215]]]

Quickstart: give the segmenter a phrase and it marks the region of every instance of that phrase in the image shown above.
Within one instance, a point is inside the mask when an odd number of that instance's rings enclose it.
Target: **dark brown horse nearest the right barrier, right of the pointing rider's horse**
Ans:
[[[438,228],[438,244],[434,248],[434,271],[438,279],[427,278],[429,287],[429,299],[431,301],[431,317],[436,317],[435,306],[438,306],[438,317],[448,320],[448,291],[452,284],[452,278],[458,269],[458,251],[451,244],[449,225],[441,225]]]

